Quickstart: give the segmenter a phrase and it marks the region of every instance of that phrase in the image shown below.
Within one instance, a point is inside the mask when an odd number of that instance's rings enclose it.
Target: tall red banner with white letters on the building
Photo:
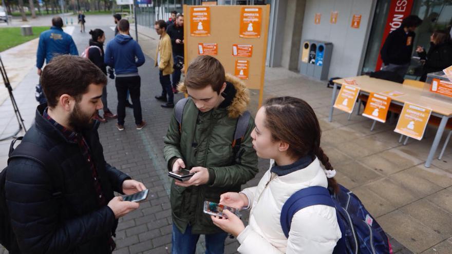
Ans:
[[[414,0],[391,0],[391,6],[389,7],[388,19],[386,20],[386,26],[385,31],[383,32],[380,50],[383,47],[388,34],[399,28],[402,25],[402,20],[405,17],[409,16],[409,14],[411,13],[411,8],[413,7],[413,2]],[[383,61],[379,52],[375,71],[380,70],[382,64]]]

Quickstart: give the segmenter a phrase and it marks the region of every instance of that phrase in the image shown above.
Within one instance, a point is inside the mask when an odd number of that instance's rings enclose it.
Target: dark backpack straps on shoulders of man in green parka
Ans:
[[[174,107],[174,114],[176,116],[177,123],[179,124],[179,133],[182,128],[182,116],[185,108],[185,104],[189,101],[189,97],[183,98],[179,100]],[[232,141],[232,152],[234,163],[239,163],[244,150],[240,151],[240,145],[243,141],[244,135],[248,129],[248,123],[250,122],[251,113],[249,111],[245,111],[243,114],[239,116],[237,119],[237,124],[235,125],[234,131],[234,140]]]

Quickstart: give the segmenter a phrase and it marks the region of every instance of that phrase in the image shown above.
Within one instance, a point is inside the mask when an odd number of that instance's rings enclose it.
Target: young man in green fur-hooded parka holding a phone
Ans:
[[[223,253],[227,233],[212,223],[203,206],[204,201],[218,203],[224,192],[239,191],[258,172],[250,135],[253,118],[241,140],[239,158],[233,152],[237,120],[247,110],[249,91],[237,77],[225,74],[212,56],[198,56],[178,89],[190,97],[180,124],[173,114],[164,156],[168,170],[186,168],[195,174],[171,185],[172,253],[195,253],[199,235],[205,235],[206,253]]]

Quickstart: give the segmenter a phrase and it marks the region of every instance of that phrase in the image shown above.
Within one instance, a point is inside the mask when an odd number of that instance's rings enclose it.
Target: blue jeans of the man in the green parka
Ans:
[[[224,240],[228,236],[227,232],[205,235],[205,254],[223,254]],[[192,227],[187,226],[184,233],[181,233],[173,224],[173,248],[172,254],[195,254],[196,243],[199,235],[192,234]]]

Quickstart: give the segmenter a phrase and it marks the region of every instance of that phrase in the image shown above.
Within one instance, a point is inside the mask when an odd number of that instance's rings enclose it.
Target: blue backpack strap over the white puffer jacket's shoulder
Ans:
[[[290,224],[292,223],[292,218],[295,213],[303,208],[313,205],[335,207],[330,196],[330,192],[327,188],[322,186],[311,186],[300,189],[293,193],[288,200],[286,200],[279,218],[286,238],[289,238]]]

